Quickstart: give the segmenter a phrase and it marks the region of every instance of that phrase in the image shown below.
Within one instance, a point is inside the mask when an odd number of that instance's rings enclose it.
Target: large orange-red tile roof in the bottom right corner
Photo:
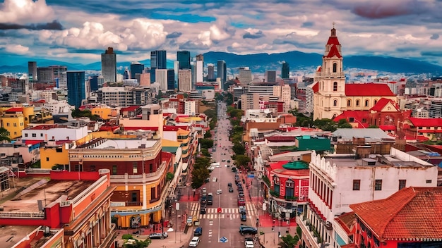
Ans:
[[[407,187],[386,199],[350,208],[379,240],[442,238],[442,187]]]

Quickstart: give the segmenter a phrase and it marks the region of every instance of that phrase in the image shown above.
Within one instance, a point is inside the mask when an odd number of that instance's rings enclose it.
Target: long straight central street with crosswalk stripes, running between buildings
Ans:
[[[237,186],[234,183],[234,172],[231,167],[227,167],[227,161],[232,164],[232,143],[229,142],[230,123],[226,116],[225,103],[218,105],[218,123],[213,136],[216,144],[216,151],[213,152],[212,158],[220,162],[219,167],[215,167],[210,173],[210,182],[205,183],[203,187],[208,193],[213,193],[213,205],[207,206],[207,213],[200,213],[199,202],[191,202],[189,211],[191,215],[197,215],[200,219],[200,225],[203,228],[201,242],[198,247],[244,247],[244,236],[239,234],[239,225],[253,225],[252,221],[256,220],[256,209],[250,202],[246,202],[247,221],[241,221],[239,218],[239,209],[237,205]],[[224,161],[223,161],[224,160]],[[216,178],[216,179],[214,179]],[[229,192],[227,184],[231,182],[234,192]],[[217,190],[222,190],[222,194],[217,194]],[[221,208],[221,213],[217,213],[217,209]],[[220,239],[227,239],[227,242],[221,242]]]

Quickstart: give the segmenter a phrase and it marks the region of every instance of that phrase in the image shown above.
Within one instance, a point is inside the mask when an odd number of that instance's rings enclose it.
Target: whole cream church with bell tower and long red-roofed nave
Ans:
[[[341,44],[333,27],[325,44],[322,66],[318,66],[314,77],[313,120],[333,120],[343,111],[369,111],[382,98],[398,102],[386,84],[346,84],[341,53]]]

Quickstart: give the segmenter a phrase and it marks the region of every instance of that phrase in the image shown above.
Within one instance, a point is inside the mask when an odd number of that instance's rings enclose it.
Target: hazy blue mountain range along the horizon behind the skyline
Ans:
[[[301,51],[288,51],[280,54],[229,54],[219,51],[210,51],[203,54],[204,63],[216,63],[223,60],[231,73],[237,73],[239,67],[249,67],[252,73],[264,73],[265,70],[280,70],[282,61],[289,63],[290,70],[311,70],[322,63],[322,55],[315,53],[304,53]],[[118,54],[117,54],[118,59]],[[13,62],[11,62],[13,61]],[[3,56],[0,61],[0,73],[27,73],[28,61],[37,61],[37,66],[67,66],[68,70],[101,70],[101,62],[90,64],[66,63],[56,60],[28,58],[25,56]],[[145,66],[150,66],[150,59],[139,61]],[[8,64],[6,64],[8,63]],[[11,66],[11,64],[13,64]],[[118,62],[119,72],[129,67],[131,62]],[[442,66],[434,65],[424,61],[417,61],[407,58],[395,58],[388,56],[345,56],[345,70],[359,68],[360,70],[375,70],[386,73],[427,73],[441,75]],[[167,67],[173,68],[173,61],[167,61]]]

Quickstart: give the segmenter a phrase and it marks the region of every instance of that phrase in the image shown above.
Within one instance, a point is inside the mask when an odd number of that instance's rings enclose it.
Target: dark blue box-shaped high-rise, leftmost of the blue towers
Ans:
[[[81,106],[81,101],[86,99],[85,87],[85,71],[84,70],[68,70],[68,104]]]

